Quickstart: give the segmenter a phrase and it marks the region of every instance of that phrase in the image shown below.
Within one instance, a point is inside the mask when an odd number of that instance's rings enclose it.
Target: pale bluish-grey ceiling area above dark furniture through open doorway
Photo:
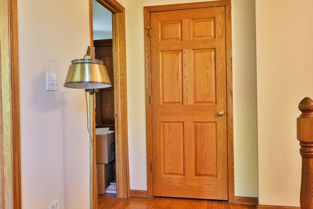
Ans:
[[[112,39],[112,13],[92,0],[93,40]]]

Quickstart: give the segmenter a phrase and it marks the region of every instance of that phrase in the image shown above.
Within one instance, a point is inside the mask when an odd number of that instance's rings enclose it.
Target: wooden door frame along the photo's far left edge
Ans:
[[[17,0],[0,1],[0,32],[0,208],[21,209]]]

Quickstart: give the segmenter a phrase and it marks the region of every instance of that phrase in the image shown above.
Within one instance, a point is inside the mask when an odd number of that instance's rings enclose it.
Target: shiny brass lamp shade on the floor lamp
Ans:
[[[91,59],[90,47],[83,59],[73,60],[68,68],[64,87],[102,89],[111,87],[106,67],[101,60]]]

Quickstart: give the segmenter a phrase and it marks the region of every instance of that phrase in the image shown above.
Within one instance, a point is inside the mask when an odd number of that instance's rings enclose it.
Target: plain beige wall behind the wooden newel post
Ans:
[[[299,206],[299,102],[313,97],[313,1],[257,0],[259,202]]]

